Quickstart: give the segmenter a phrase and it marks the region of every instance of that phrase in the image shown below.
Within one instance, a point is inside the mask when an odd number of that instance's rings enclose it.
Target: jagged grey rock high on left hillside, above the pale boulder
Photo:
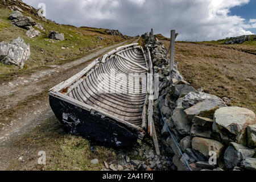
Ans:
[[[13,13],[9,16],[9,19],[18,27],[36,25],[35,20],[33,20],[30,16],[23,16],[19,11],[13,11]]]

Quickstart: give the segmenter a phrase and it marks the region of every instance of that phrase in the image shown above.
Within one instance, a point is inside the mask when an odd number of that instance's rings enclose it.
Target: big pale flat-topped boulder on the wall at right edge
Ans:
[[[246,128],[256,123],[253,111],[241,107],[222,107],[216,110],[213,130],[222,140],[232,140],[246,146]]]

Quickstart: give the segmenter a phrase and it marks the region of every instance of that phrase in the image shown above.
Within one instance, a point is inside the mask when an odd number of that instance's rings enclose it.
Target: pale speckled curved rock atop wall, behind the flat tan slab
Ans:
[[[204,93],[204,92],[190,92],[188,93],[184,98],[183,98],[183,107],[185,109],[196,105],[199,102],[205,101],[205,100],[216,100],[218,102],[224,102],[221,100],[221,98],[208,94],[208,93]]]

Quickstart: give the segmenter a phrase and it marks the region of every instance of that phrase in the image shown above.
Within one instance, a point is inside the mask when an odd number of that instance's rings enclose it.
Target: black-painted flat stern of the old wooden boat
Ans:
[[[138,130],[102,117],[59,98],[49,96],[49,104],[67,133],[80,135],[106,147],[129,148],[137,143]]]

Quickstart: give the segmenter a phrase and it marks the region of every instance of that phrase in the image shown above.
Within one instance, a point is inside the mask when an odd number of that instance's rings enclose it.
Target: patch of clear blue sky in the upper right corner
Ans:
[[[233,7],[230,9],[230,15],[241,16],[247,21],[256,19],[256,0],[251,0],[246,5]],[[256,34],[256,28],[249,28],[248,30]]]

